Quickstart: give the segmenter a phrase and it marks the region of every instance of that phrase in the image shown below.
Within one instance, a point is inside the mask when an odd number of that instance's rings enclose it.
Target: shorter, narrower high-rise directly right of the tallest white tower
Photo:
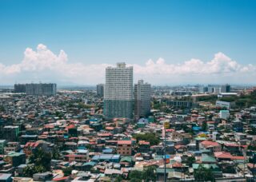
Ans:
[[[139,80],[134,85],[134,115],[136,119],[139,117],[147,117],[150,114],[151,85]]]

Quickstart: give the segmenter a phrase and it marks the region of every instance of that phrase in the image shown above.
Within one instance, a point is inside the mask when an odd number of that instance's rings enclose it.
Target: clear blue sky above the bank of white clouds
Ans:
[[[70,64],[182,64],[222,52],[254,65],[256,1],[1,0],[0,63],[19,64],[38,44],[63,49]]]

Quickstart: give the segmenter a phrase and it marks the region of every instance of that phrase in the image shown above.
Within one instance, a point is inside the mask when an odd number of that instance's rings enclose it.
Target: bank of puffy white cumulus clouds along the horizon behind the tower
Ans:
[[[19,64],[0,63],[0,81],[5,83],[54,81],[94,85],[103,82],[108,64],[69,63],[67,54],[60,50],[53,53],[46,45],[39,44],[36,50],[27,48]],[[114,65],[111,65],[114,66]],[[142,78],[152,84],[178,83],[253,83],[255,65],[241,65],[224,53],[214,54],[210,61],[192,58],[182,64],[168,64],[160,57],[157,61],[146,61],[145,65],[134,64],[134,80]],[[11,81],[11,82],[10,82]]]

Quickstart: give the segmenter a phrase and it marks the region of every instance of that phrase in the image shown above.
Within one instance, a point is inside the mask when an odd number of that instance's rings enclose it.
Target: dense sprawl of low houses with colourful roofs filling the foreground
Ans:
[[[157,181],[196,181],[201,168],[216,181],[251,180],[256,108],[198,104],[106,121],[92,91],[14,94],[1,100],[0,181],[127,181],[150,166]],[[38,151],[50,154],[50,170],[29,174]]]

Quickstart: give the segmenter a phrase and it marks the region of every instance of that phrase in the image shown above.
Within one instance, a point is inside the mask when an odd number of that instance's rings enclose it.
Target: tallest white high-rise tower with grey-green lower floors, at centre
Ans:
[[[117,67],[106,68],[104,88],[104,115],[106,118],[133,117],[133,67],[117,63]]]

